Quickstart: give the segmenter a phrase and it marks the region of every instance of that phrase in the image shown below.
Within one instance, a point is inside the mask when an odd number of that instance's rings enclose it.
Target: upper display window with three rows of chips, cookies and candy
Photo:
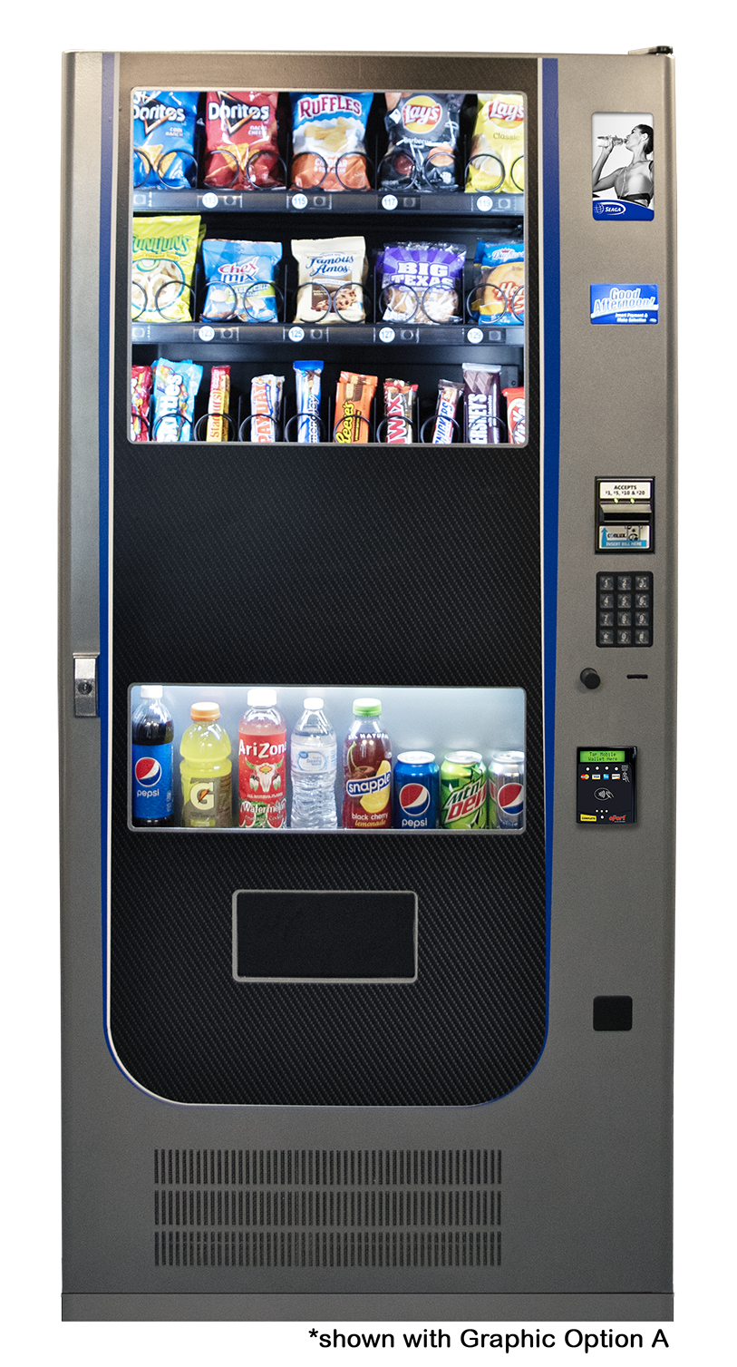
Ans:
[[[133,92],[130,439],[525,446],[525,98]]]

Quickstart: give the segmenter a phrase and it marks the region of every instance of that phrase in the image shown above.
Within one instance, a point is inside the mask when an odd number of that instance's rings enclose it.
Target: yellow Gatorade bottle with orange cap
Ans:
[[[194,703],[179,744],[182,826],[232,826],[228,733],[217,703]]]

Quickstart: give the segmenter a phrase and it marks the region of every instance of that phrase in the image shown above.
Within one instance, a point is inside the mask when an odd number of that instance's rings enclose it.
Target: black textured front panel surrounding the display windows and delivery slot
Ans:
[[[123,1066],[172,1100],[474,1105],[543,1046],[536,64],[507,66],[498,89],[526,89],[531,115],[525,448],[134,447],[119,253],[111,1025]],[[413,353],[373,354],[412,379]],[[129,830],[129,686],[246,679],[525,689],[526,830]],[[238,889],[414,893],[417,980],[235,982]]]

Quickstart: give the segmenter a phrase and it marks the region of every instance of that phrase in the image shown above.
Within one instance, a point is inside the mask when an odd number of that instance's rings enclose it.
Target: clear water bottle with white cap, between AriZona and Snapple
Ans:
[[[291,828],[335,831],[335,731],[323,712],[321,697],[306,697],[305,711],[291,733]]]

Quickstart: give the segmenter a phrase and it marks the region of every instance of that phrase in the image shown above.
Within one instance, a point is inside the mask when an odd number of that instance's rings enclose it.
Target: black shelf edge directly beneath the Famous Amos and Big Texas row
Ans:
[[[409,325],[399,323],[339,323],[335,327],[313,327],[310,323],[133,323],[131,342],[134,346],[157,346],[172,342],[178,346],[201,346],[202,343],[268,344],[286,342],[291,346],[432,346],[469,347],[476,346],[518,346],[525,344],[525,328],[521,324],[503,328],[490,328],[485,324],[443,324]]]

